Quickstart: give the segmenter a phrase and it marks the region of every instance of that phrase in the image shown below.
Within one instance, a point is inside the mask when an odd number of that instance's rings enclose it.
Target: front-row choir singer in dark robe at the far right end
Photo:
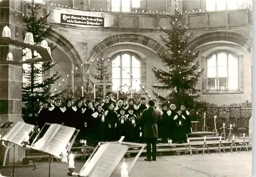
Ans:
[[[187,141],[186,134],[186,118],[181,114],[181,110],[177,110],[177,114],[174,116],[174,143],[185,143]]]

